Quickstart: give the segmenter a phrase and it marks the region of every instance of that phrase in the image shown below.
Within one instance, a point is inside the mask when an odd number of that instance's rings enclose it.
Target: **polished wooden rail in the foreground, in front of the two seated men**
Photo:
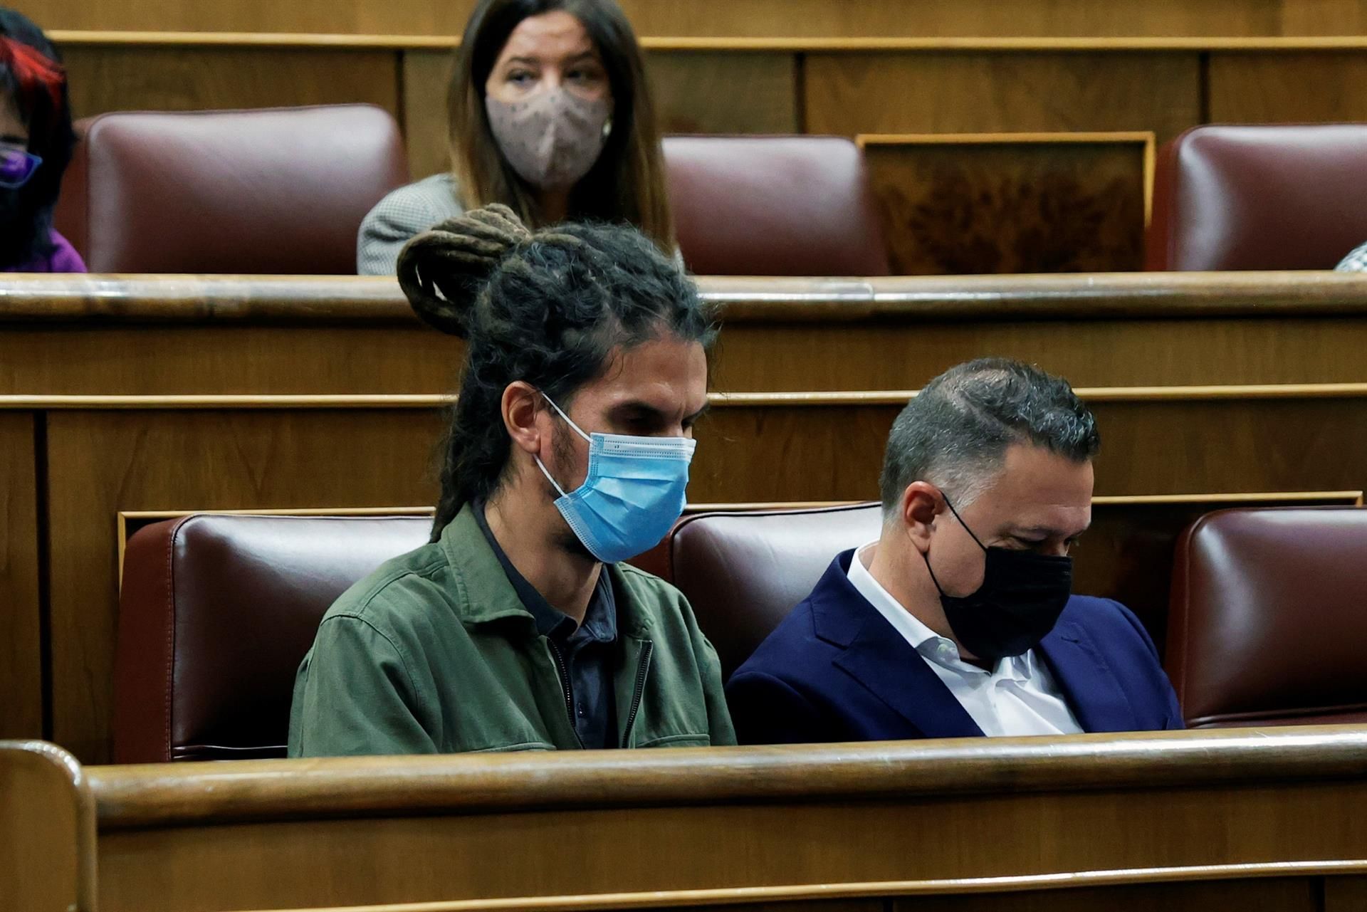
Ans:
[[[86,767],[101,830],[552,808],[1080,792],[1367,775],[1367,729],[1304,726],[678,751]]]

